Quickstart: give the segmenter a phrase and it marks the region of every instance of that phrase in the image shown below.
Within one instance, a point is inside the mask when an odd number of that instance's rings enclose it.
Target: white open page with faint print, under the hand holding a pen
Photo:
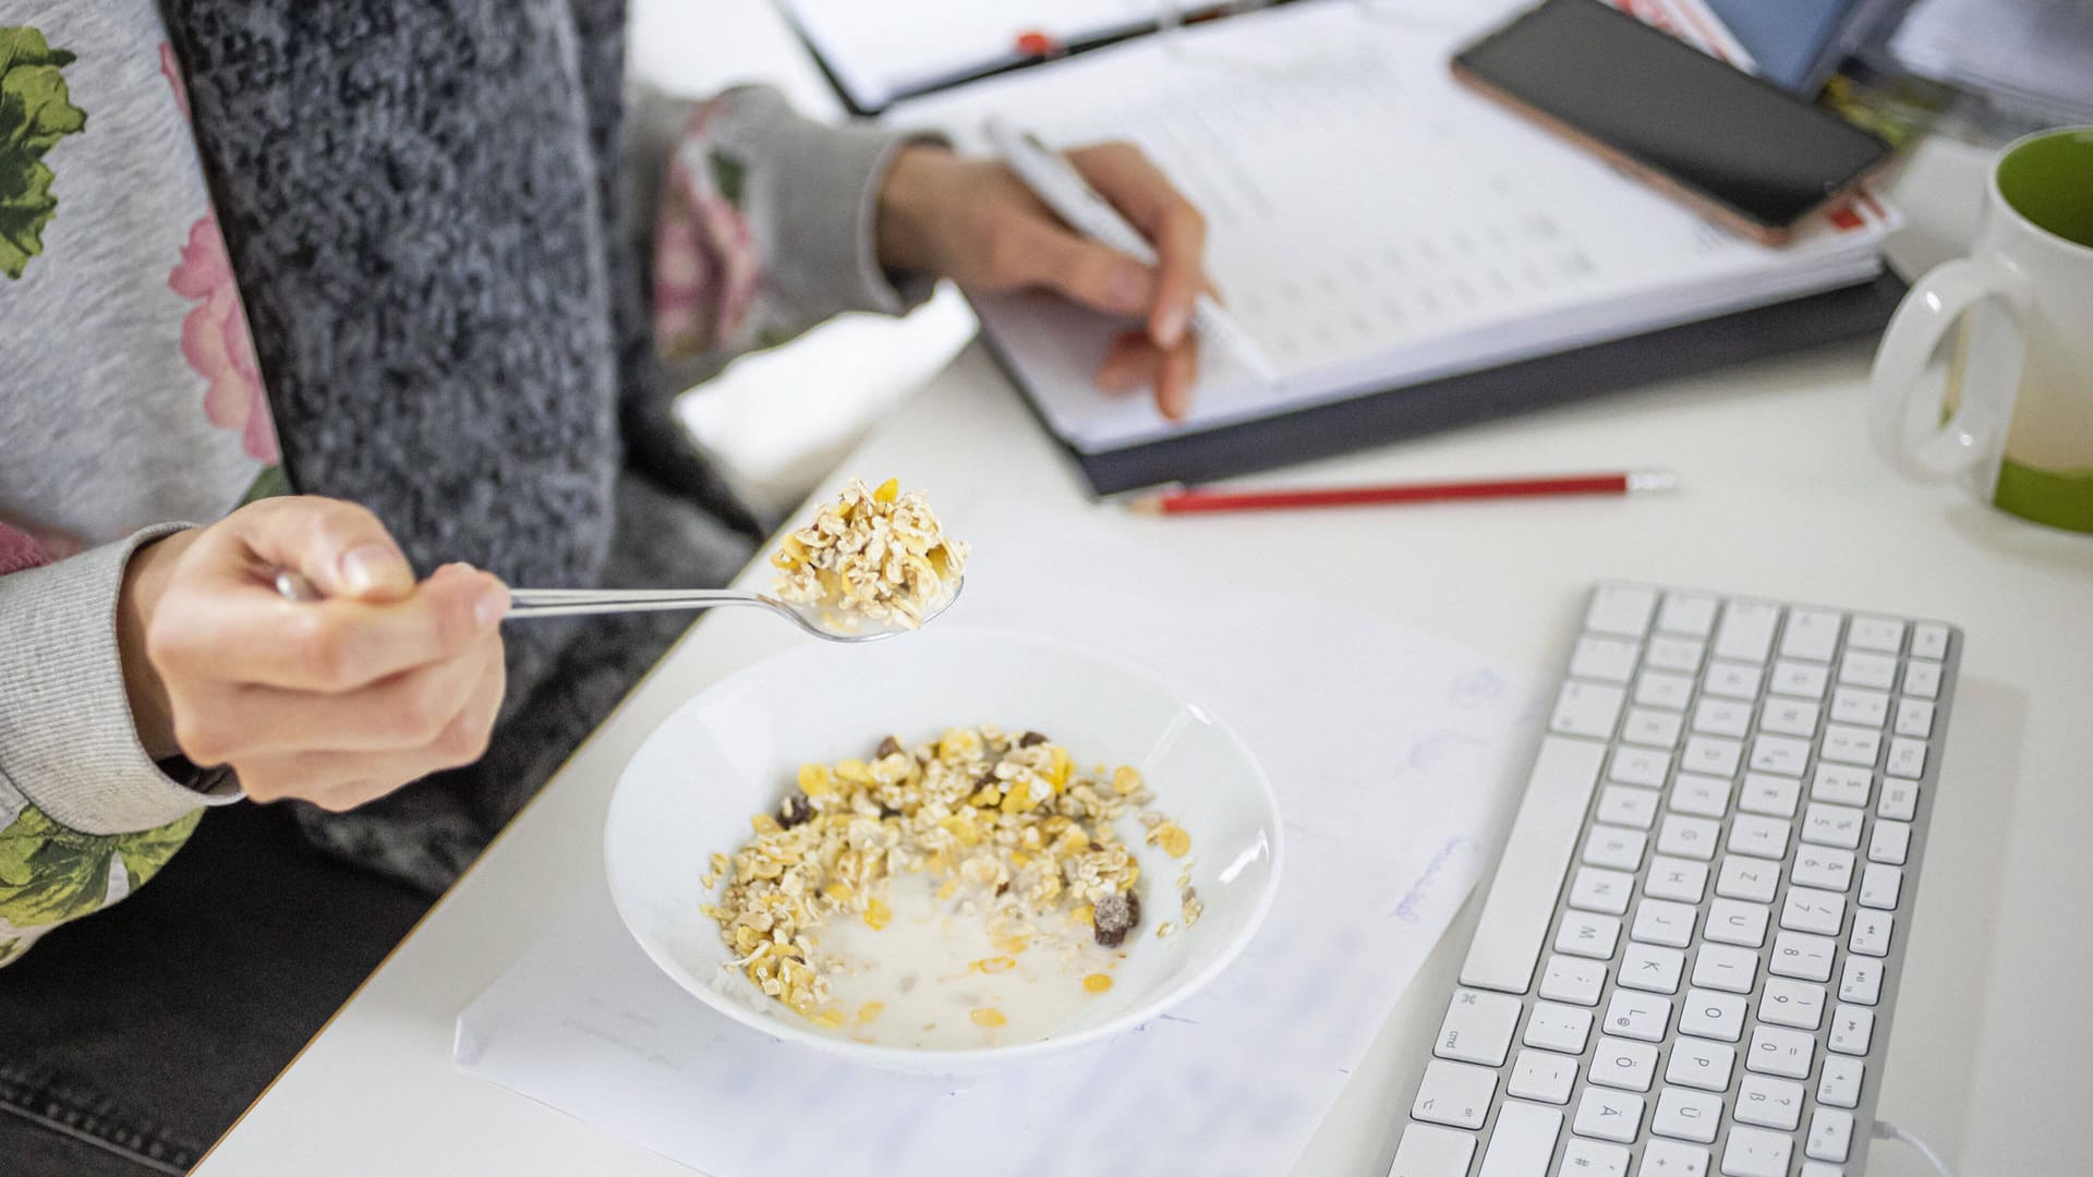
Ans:
[[[1438,17],[1438,13],[1434,13]],[[906,103],[977,147],[990,111],[1046,140],[1139,142],[1210,222],[1208,266],[1281,371],[1206,352],[1191,427],[1377,392],[1871,276],[1886,218],[1787,249],[1720,230],[1457,86],[1476,29],[1310,0]],[[1126,325],[982,299],[1057,434],[1107,450],[1172,431],[1095,392]]]

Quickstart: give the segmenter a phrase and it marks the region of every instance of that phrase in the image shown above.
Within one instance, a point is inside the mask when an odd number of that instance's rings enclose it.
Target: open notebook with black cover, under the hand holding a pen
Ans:
[[[1898,293],[1877,281],[1890,207],[1865,197],[1777,249],[1708,224],[1453,82],[1450,52],[1503,8],[1302,0],[887,113],[975,147],[988,113],[1055,145],[1128,138],[1206,212],[1210,274],[1281,379],[1208,352],[1183,425],[1093,385],[1126,323],[1046,295],[975,299],[1099,492],[1880,329]]]

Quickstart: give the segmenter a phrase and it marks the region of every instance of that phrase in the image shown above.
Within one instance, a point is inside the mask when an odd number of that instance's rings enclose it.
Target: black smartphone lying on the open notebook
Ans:
[[[1545,0],[1455,77],[1766,243],[1890,157],[1882,138],[1601,0]]]

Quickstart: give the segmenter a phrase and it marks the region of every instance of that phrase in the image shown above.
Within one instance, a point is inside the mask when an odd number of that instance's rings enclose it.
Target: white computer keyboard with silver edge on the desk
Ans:
[[[1861,1173],[1959,662],[1601,584],[1392,1177]]]

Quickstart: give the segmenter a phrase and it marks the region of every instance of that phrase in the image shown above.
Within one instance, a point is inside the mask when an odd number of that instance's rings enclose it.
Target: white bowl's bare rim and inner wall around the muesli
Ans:
[[[1036,729],[1080,762],[1134,764],[1155,806],[1193,836],[1193,886],[1206,913],[1176,919],[1183,863],[1139,846],[1143,919],[1109,993],[1044,1039],[980,1049],[856,1043],[791,1014],[735,968],[718,924],[699,911],[720,888],[710,857],[774,813],[800,764],[864,756],[885,735],[927,739],[946,727]],[[1279,888],[1279,806],[1250,750],[1191,697],[1078,645],[998,630],[931,626],[877,645],[806,645],[747,666],[680,706],[626,764],[603,836],[617,915],[655,965],[720,1014],[774,1039],[858,1064],[965,1074],[1078,1049],[1185,1001],[1250,942]]]

